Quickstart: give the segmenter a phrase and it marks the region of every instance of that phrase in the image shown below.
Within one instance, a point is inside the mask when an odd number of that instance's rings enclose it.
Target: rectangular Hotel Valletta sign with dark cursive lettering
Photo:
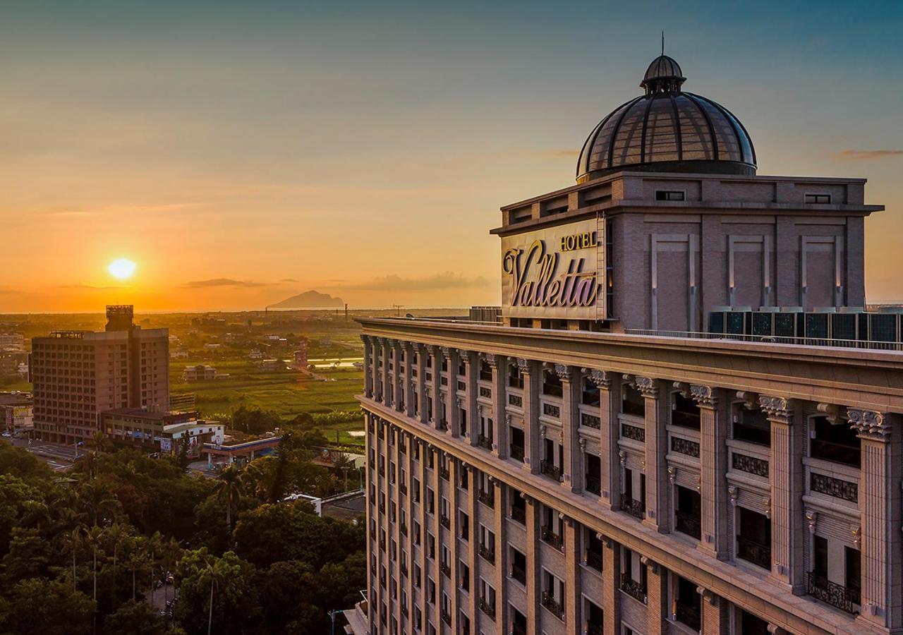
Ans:
[[[605,223],[587,219],[502,238],[502,314],[605,319]]]

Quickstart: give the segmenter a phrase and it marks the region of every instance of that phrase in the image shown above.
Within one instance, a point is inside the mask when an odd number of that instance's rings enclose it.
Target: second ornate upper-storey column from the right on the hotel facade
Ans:
[[[794,593],[803,593],[805,426],[796,421],[796,405],[786,397],[760,395],[759,406],[771,422],[771,578]]]

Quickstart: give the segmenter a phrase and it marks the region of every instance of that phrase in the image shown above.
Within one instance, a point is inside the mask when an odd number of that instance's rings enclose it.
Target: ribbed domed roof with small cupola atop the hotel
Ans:
[[[712,99],[684,92],[680,65],[667,55],[649,64],[645,95],[615,108],[595,127],[577,162],[577,182],[620,170],[755,174],[746,128]]]

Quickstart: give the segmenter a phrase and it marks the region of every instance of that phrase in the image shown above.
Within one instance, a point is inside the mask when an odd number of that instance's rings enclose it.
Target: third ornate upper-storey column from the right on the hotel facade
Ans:
[[[690,394],[699,405],[700,453],[699,468],[702,479],[703,536],[700,549],[726,560],[731,552],[728,536],[727,501],[727,401],[721,391],[711,386],[690,385]]]

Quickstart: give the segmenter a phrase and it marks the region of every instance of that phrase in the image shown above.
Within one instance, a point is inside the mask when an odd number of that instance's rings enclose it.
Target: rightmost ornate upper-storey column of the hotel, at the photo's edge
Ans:
[[[903,627],[900,434],[893,430],[892,415],[851,408],[847,416],[861,439],[859,619],[893,632]]]

